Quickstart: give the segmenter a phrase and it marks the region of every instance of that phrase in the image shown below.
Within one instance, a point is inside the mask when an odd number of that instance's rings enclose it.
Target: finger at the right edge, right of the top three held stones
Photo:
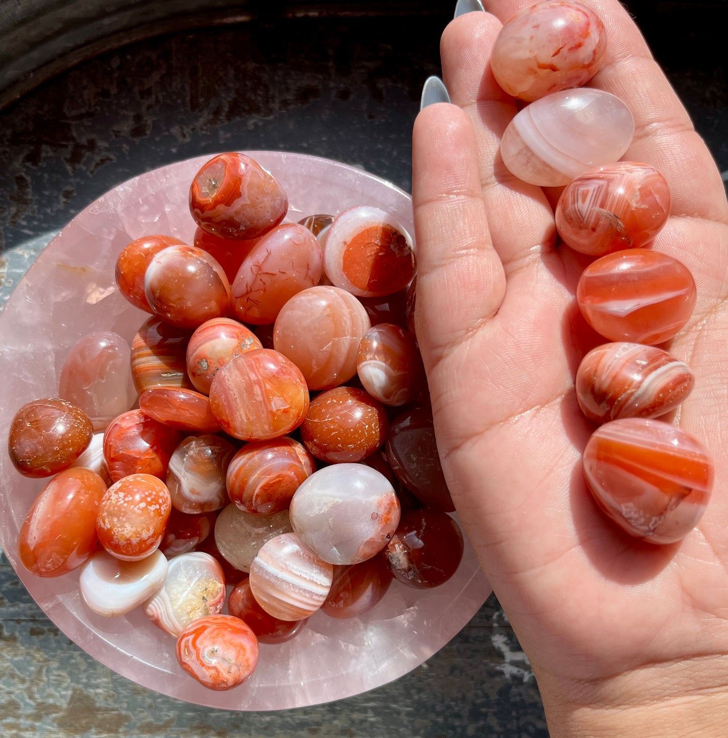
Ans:
[[[588,85],[620,97],[634,117],[634,139],[622,159],[646,162],[662,172],[673,215],[728,222],[724,188],[710,151],[630,15],[618,0],[580,3],[594,10],[607,33],[605,59]],[[486,0],[485,7],[505,23],[531,4]]]

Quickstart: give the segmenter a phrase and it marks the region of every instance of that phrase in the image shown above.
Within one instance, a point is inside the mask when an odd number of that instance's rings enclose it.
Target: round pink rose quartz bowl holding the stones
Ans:
[[[283,184],[286,221],[336,214],[368,204],[386,210],[412,232],[411,199],[371,174],[302,154],[247,152]],[[190,182],[210,156],[168,165],[120,184],[79,213],[18,283],[0,315],[1,437],[25,402],[56,396],[63,358],[92,331],[116,331],[131,342],[148,314],[117,291],[114,264],[126,244],[165,233],[191,243]],[[229,710],[280,710],[340,700],[382,686],[423,663],[475,615],[490,586],[466,543],[460,568],[441,587],[414,590],[394,582],[361,618],[316,613],[299,635],[261,644],[250,680],[227,692],[205,689],[182,672],[175,641],[142,610],[103,618],[83,603],[78,570],[55,579],[18,562],[18,531],[47,480],[13,469],[0,444],[0,545],[41,610],[84,651],[132,681],[179,700]],[[227,612],[227,610],[225,610]]]

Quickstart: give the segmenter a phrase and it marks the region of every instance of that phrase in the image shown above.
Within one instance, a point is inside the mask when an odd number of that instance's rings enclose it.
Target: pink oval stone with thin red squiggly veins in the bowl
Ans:
[[[318,284],[322,271],[323,251],[315,235],[285,223],[264,235],[244,258],[230,306],[244,323],[273,323],[294,294]]]

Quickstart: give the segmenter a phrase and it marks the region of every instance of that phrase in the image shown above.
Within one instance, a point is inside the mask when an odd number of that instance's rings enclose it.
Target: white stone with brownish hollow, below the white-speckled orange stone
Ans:
[[[78,585],[83,601],[98,615],[125,615],[149,599],[167,575],[167,559],[154,551],[141,561],[122,561],[96,551],[81,565]]]

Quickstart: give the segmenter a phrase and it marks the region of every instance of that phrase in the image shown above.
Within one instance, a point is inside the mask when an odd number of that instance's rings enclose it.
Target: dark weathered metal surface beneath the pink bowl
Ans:
[[[705,20],[686,32],[676,5],[630,4],[727,170],[724,67],[717,53],[693,53],[722,43],[722,30]],[[409,190],[411,124],[422,83],[439,73],[439,35],[452,6],[275,18],[272,2],[259,20],[105,52],[25,94],[0,111],[0,303],[75,213],[124,179],[179,159],[301,151]],[[666,23],[651,27],[658,12]],[[328,706],[234,714],[148,692],[100,666],[59,634],[4,559],[0,593],[3,737],[546,736],[532,672],[494,598],[396,683]]]

